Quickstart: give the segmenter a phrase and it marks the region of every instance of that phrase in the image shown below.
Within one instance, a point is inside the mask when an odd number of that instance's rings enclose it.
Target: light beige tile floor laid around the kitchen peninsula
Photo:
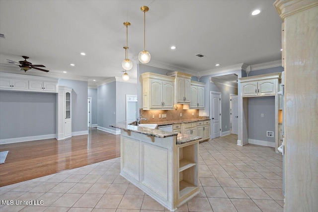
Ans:
[[[283,212],[282,155],[271,147],[236,143],[235,135],[200,143],[201,193],[177,211]],[[114,158],[0,187],[0,211],[167,211],[119,172],[120,158]],[[15,205],[15,200],[38,205]]]

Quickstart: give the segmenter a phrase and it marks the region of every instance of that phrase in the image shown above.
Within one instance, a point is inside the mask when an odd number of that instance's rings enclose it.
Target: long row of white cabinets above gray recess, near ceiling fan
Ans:
[[[14,73],[0,73],[0,89],[57,93],[58,79]]]

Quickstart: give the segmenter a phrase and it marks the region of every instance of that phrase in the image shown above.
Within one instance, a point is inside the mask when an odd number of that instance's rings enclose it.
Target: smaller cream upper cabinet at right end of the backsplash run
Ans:
[[[191,81],[190,108],[204,108],[205,83]]]

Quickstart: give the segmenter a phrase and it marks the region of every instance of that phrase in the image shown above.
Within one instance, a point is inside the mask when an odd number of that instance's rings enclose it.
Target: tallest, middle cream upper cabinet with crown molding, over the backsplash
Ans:
[[[174,104],[190,104],[190,87],[191,87],[191,76],[187,73],[173,71],[168,73],[169,76],[174,76]]]

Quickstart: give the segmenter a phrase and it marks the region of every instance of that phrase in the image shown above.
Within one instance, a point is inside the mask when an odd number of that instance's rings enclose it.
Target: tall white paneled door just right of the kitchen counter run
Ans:
[[[211,92],[211,132],[212,139],[218,138],[221,136],[221,94]]]

